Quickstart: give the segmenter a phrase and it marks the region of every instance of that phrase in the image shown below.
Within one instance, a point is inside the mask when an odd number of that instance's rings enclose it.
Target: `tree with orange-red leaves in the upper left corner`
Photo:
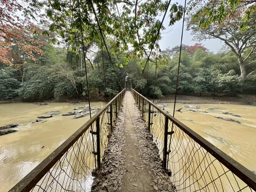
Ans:
[[[23,10],[17,0],[0,0],[0,62],[12,65],[11,50],[17,46],[20,52],[35,60],[35,54],[43,54],[42,42],[34,38],[37,30],[29,19],[21,19],[17,12]]]

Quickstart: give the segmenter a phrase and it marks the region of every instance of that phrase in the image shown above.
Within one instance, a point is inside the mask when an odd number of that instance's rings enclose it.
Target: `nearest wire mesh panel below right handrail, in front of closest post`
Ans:
[[[167,167],[177,191],[253,191],[234,173],[169,120]]]

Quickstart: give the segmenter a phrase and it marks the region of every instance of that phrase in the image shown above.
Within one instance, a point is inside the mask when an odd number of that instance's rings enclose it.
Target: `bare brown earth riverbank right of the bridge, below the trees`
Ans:
[[[175,95],[165,95],[164,98],[155,99],[155,103],[174,103]],[[153,100],[153,99],[151,99]],[[189,96],[189,95],[177,95],[176,103],[183,104],[200,104],[200,103],[212,103],[212,104],[235,104],[235,105],[247,105],[256,104],[256,95],[237,95],[237,97],[203,97],[203,96]]]

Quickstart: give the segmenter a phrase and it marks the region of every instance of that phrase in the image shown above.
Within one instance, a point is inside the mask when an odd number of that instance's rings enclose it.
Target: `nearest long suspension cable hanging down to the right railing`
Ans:
[[[186,4],[187,4],[187,0],[185,0],[183,21],[182,21],[181,40],[180,40],[180,55],[179,55],[178,73],[177,73],[176,90],[175,90],[175,98],[174,98],[173,117],[174,117],[174,113],[175,113],[177,90],[178,90],[178,79],[179,79],[179,73],[180,73],[180,60],[181,60],[182,39],[183,39],[183,31],[184,31],[184,23],[185,23]],[[172,123],[172,132],[173,132],[173,123]],[[170,143],[169,143],[168,151],[170,151],[171,141],[172,141],[172,135],[170,136]],[[166,168],[168,168],[168,162],[169,162],[169,153],[167,155],[167,167]]]

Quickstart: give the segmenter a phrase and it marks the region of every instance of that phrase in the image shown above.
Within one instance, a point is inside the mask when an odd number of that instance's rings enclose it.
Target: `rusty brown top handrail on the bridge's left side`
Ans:
[[[27,192],[30,191],[45,174],[55,165],[57,161],[69,150],[69,148],[85,133],[90,126],[98,119],[99,116],[118,99],[123,98],[126,89],[118,93],[104,108],[99,110],[91,117],[82,127],[74,134],[65,140],[59,147],[56,148],[48,157],[46,157],[39,165],[37,165],[30,173],[20,180],[9,192]],[[118,100],[118,102],[120,101]]]

